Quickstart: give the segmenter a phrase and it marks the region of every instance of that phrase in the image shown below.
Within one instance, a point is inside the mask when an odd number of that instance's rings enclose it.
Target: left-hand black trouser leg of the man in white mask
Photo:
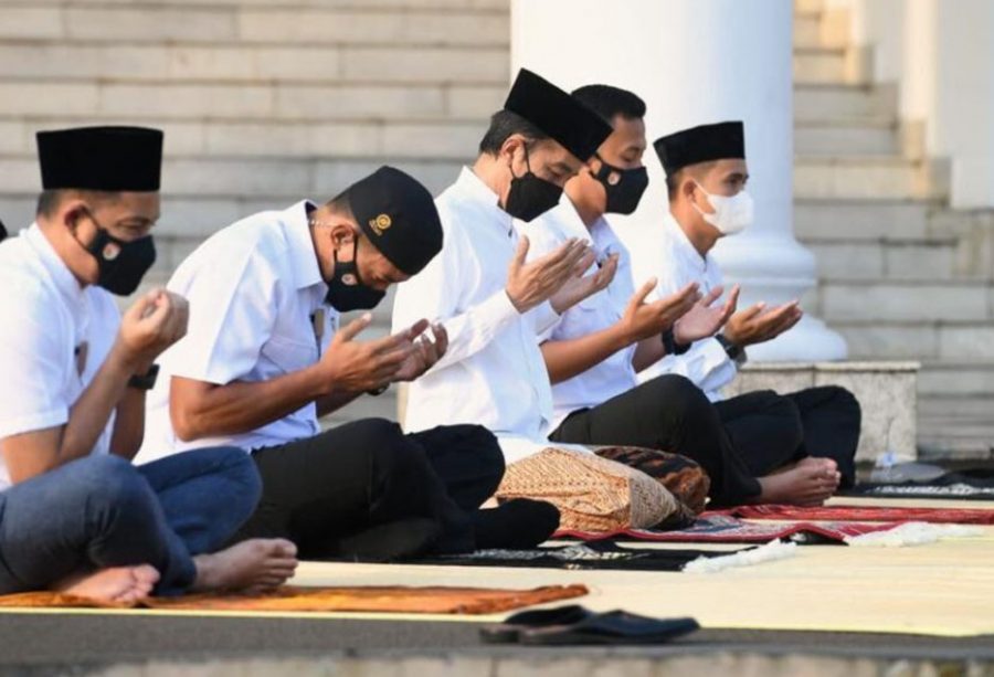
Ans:
[[[807,455],[801,413],[790,398],[758,390],[716,402],[715,409],[753,477]]]

